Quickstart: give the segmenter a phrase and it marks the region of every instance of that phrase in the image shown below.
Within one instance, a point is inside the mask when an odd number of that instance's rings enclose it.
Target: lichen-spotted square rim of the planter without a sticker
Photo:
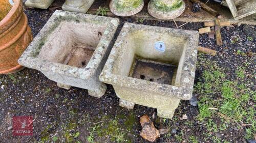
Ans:
[[[33,55],[38,50],[39,51],[41,50],[40,49],[42,47],[42,45],[40,45],[41,41],[43,39],[47,39],[47,37],[49,36],[48,34],[52,31],[52,27],[54,26],[53,24],[56,23],[57,20],[59,20],[59,19],[56,20],[56,18],[58,17],[65,18],[65,16],[71,16],[75,18],[73,19],[74,21],[81,20],[81,19],[88,20],[88,21],[100,20],[100,21],[103,21],[103,23],[106,23],[107,25],[89,63],[85,68],[77,68],[77,67],[73,67],[65,64],[50,62],[47,60],[36,58],[39,52],[37,53],[37,55]],[[63,20],[63,21],[66,21],[66,20]],[[63,22],[63,21],[59,21],[59,22]],[[50,19],[47,21],[45,26],[34,38],[34,40],[30,43],[30,45],[22,54],[22,56],[20,56],[18,63],[25,67],[29,67],[29,68],[40,70],[40,71],[53,72],[53,73],[66,75],[69,77],[80,78],[80,79],[88,79],[92,77],[96,72],[96,70],[98,69],[98,66],[106,52],[106,49],[108,49],[111,44],[110,42],[114,37],[114,34],[116,32],[118,25],[119,25],[119,19],[117,18],[56,10],[53,13],[53,15],[50,17]],[[105,47],[105,48],[102,48],[102,47]]]

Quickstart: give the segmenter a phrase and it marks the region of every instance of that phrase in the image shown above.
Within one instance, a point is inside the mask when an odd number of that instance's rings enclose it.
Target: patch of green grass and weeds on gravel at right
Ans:
[[[242,124],[248,124],[250,126],[244,127],[244,138],[253,138],[256,112],[254,105],[248,103],[254,103],[256,95],[250,88],[252,81],[245,80],[245,67],[237,68],[236,78],[228,79],[225,69],[218,67],[217,63],[208,63],[206,60],[203,66],[205,70],[194,88],[194,93],[200,95],[197,120],[205,124],[208,132],[213,133],[225,131],[228,126],[240,129]],[[221,119],[220,123],[216,123],[218,118]],[[223,142],[216,136],[208,137],[212,142]],[[189,140],[193,142],[193,136]]]

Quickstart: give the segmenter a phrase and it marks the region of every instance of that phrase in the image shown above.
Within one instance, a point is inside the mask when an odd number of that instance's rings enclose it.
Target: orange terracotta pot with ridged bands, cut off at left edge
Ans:
[[[13,2],[11,7],[8,0],[0,1],[0,9],[3,10],[0,11],[0,74],[23,69],[17,60],[33,39],[28,18],[23,12],[22,0]],[[1,16],[4,18],[1,19]]]

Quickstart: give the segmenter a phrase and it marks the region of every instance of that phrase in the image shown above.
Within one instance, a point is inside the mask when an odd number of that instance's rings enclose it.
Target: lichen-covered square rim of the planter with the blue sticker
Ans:
[[[110,52],[109,58],[106,61],[105,66],[99,76],[99,79],[102,82],[116,85],[118,87],[137,89],[141,91],[149,91],[151,93],[153,92],[168,97],[189,100],[193,92],[199,33],[198,31],[178,30],[166,27],[157,27],[157,30],[154,30],[154,27],[156,26],[124,23],[122,30],[115,42],[115,45],[113,46]],[[184,65],[182,67],[180,78],[181,81],[179,86],[160,84],[157,82],[151,82],[147,80],[137,79],[113,73],[113,68],[116,66],[115,60],[117,59],[117,56],[120,56],[119,53],[123,49],[123,47],[121,46],[123,44],[122,39],[127,38],[127,33],[129,33],[130,30],[149,30],[150,32],[167,31],[172,33],[173,36],[183,36],[187,38],[187,48],[185,49],[185,55],[192,53],[193,56],[191,56],[190,58],[185,56],[184,58]],[[194,64],[185,65],[186,62],[192,62]]]

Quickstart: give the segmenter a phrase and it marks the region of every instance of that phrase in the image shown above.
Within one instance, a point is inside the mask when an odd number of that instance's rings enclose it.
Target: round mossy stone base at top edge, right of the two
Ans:
[[[151,0],[147,11],[158,19],[174,19],[179,17],[185,10],[182,0]]]

